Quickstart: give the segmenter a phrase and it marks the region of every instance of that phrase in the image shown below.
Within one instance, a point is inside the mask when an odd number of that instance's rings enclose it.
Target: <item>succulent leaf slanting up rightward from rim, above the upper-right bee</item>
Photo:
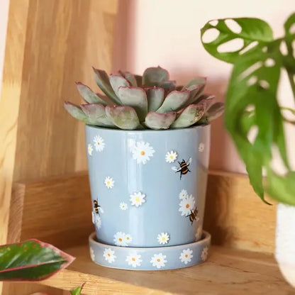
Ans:
[[[172,128],[185,128],[194,125],[204,116],[206,103],[190,104],[172,124]]]

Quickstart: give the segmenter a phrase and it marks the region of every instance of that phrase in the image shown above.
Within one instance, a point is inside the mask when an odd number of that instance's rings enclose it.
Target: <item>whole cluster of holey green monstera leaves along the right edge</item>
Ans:
[[[272,28],[265,21],[226,18],[206,23],[201,29],[201,38],[204,48],[213,57],[233,63],[226,95],[226,128],[245,162],[253,189],[265,201],[262,184],[262,170],[265,169],[269,195],[295,205],[295,187],[291,183],[294,172],[290,170],[286,156],[284,117],[277,101],[282,68],[288,73],[295,99],[295,13],[288,18],[284,28],[284,37],[274,40]],[[217,31],[218,36],[206,43],[204,37],[210,30]],[[221,46],[233,40],[242,40],[239,48],[221,50]],[[286,45],[287,52],[281,51],[282,45]],[[257,132],[251,139],[254,129]],[[272,169],[274,146],[288,171],[285,175],[278,175]],[[288,187],[287,191],[282,189],[284,186]]]

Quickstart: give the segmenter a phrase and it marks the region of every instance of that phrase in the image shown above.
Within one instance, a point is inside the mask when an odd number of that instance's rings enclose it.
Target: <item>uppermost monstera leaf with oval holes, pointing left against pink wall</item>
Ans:
[[[240,33],[235,33],[226,25],[226,20],[233,20],[240,26]],[[225,62],[235,63],[240,57],[242,50],[245,50],[248,45],[253,42],[257,42],[258,45],[265,45],[273,40],[272,28],[259,18],[224,18],[218,19],[217,25],[213,26],[212,21],[208,21],[206,25],[201,28],[201,40],[204,48],[213,57],[223,60]],[[209,33],[208,30],[218,30],[218,37],[216,40],[210,43],[204,43],[205,33]],[[218,47],[230,40],[241,38],[243,40],[243,46],[233,52],[219,52]]]

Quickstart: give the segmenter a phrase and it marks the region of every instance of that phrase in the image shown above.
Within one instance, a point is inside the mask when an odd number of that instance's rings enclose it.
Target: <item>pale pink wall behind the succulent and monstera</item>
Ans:
[[[294,0],[120,0],[113,69],[142,73],[160,65],[181,84],[206,76],[206,92],[223,101],[231,66],[204,50],[201,27],[212,18],[252,16],[265,19],[275,35],[282,35],[292,10]],[[286,77],[282,83],[286,85]],[[290,98],[291,90],[283,88],[284,99]],[[212,123],[211,169],[245,172],[221,118]]]

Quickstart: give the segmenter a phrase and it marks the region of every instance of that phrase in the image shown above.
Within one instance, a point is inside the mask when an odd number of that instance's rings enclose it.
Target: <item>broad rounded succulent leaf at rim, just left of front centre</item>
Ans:
[[[131,106],[106,106],[106,116],[118,128],[128,130],[140,128],[138,115]]]

